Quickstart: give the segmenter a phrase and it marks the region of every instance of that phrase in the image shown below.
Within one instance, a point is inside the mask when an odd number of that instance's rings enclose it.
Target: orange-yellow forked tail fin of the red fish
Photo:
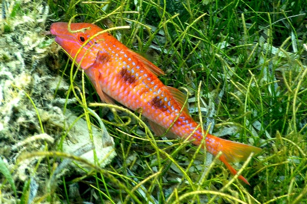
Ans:
[[[239,142],[233,142],[230,140],[224,140],[222,138],[215,138],[214,139],[220,143],[221,149],[219,151],[222,151],[223,154],[219,158],[230,170],[232,174],[236,174],[237,171],[229,164],[231,162],[243,162],[247,160],[247,158],[250,156],[251,152],[254,152],[255,154],[258,154],[261,151],[261,148],[251,146],[248,144],[243,144]],[[246,184],[250,185],[248,181],[243,177],[242,175],[238,176],[238,179],[244,181]]]

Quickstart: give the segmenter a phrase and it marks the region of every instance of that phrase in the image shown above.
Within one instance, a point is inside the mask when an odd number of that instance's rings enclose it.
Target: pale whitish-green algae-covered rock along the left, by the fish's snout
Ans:
[[[14,196],[6,177],[0,174],[0,202],[32,202],[56,190],[50,189],[48,183],[57,169],[52,166],[61,162],[51,157],[35,157],[36,151],[58,150],[74,154],[81,145],[94,141],[84,157],[95,163],[93,149],[96,148],[95,154],[100,160],[108,157],[100,163],[101,167],[115,156],[115,152],[111,137],[106,138],[109,145],[104,147],[100,130],[92,126],[94,139],[91,140],[86,122],[76,119],[77,115],[69,110],[66,114],[63,112],[64,107],[76,103],[76,99],[67,98],[65,92],[70,85],[58,74],[56,62],[60,47],[43,35],[49,18],[46,3],[3,1],[0,7],[3,11],[0,21],[0,155],[19,192]],[[80,128],[83,128],[81,132]],[[17,162],[27,153],[32,153],[33,157]],[[70,174],[68,169],[80,169],[76,165],[62,167],[66,170],[59,175]],[[56,186],[60,180],[52,182]]]

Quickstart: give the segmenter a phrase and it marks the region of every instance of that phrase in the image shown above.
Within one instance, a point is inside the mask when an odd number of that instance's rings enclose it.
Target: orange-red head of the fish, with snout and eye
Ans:
[[[50,33],[55,35],[55,41],[72,59],[76,58],[76,62],[84,70],[95,63],[98,53],[96,42],[103,38],[103,34],[94,35],[101,31],[103,31],[101,28],[92,23],[71,23],[69,29],[67,22],[55,22],[50,27]]]

